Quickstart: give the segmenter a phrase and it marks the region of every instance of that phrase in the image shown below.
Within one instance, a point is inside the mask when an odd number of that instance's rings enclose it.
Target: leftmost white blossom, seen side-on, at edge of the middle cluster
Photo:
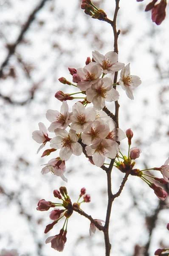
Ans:
[[[32,133],[32,139],[35,140],[37,143],[42,143],[42,145],[38,148],[37,153],[45,147],[45,144],[51,140],[51,138],[48,137],[47,129],[45,125],[42,122],[39,122],[39,131],[33,131]]]

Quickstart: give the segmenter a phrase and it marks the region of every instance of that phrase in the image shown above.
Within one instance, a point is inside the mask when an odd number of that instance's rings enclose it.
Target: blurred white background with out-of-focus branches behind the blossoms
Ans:
[[[93,3],[113,19],[115,1]],[[119,61],[130,62],[131,74],[142,80],[133,101],[118,87],[120,128],[132,128],[132,146],[142,150],[138,169],[160,167],[169,157],[169,15],[157,26],[151,13],[144,12],[148,3],[121,0],[117,18]],[[60,111],[56,91],[76,92],[58,81],[62,76],[71,81],[68,67],[84,67],[93,50],[113,50],[111,26],[85,15],[80,6],[80,0],[0,0],[0,250],[59,255],[45,239],[59,233],[62,221],[45,235],[49,212],[36,207],[42,198],[54,201],[53,190],[60,186],[67,187],[73,202],[85,187],[91,203],[82,209],[105,220],[105,172],[85,156],[73,156],[66,162],[67,184],[50,173],[41,175],[41,165],[58,153],[41,158],[43,151],[36,154],[39,144],[31,138],[38,122],[50,125],[48,109]],[[70,109],[75,102],[68,102]],[[107,107],[114,111],[113,102]],[[127,154],[127,140],[121,142],[121,151]],[[113,169],[113,192],[123,177]],[[165,189],[169,192],[168,186]],[[130,177],[112,207],[111,256],[151,256],[158,247],[169,247],[168,205],[169,200],[160,201],[141,179]],[[89,227],[87,219],[73,213],[62,256],[104,255],[103,233],[90,237]]]

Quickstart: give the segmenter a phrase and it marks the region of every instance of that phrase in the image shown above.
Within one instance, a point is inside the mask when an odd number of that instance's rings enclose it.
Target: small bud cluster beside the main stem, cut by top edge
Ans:
[[[94,6],[90,0],[82,0],[81,8],[85,10],[85,14],[90,15],[94,19],[104,20],[107,17],[106,13]]]

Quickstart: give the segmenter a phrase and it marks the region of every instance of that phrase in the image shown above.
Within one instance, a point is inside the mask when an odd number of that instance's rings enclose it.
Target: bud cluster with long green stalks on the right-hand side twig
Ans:
[[[156,183],[160,184],[167,184],[169,183],[169,158],[166,160],[164,165],[162,165],[160,168],[154,167],[150,169],[144,169],[144,170],[139,170],[139,169],[133,169],[135,166],[135,162],[132,160],[135,160],[136,158],[140,157],[141,154],[141,149],[138,147],[133,147],[130,148],[131,145],[131,140],[133,137],[133,132],[131,129],[128,129],[126,131],[126,136],[128,138],[128,145],[129,145],[129,150],[128,150],[128,157],[124,156],[121,152],[121,156],[117,155],[118,161],[115,160],[116,163],[116,168],[118,168],[121,172],[129,172],[130,175],[133,176],[138,176],[140,177],[144,182],[146,182],[151,189],[154,190],[155,195],[161,200],[165,200],[168,196],[167,192],[161,187],[157,186],[155,183],[153,183],[151,180],[155,180]],[[119,158],[123,160],[119,160]],[[158,178],[152,175],[147,175],[144,172],[149,171],[149,170],[156,170],[160,171],[161,174],[163,175],[163,178]],[[150,179],[150,180],[149,180]]]

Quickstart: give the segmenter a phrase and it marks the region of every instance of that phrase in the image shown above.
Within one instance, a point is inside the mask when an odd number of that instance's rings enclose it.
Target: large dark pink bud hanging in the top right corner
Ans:
[[[166,17],[166,5],[166,0],[161,0],[160,3],[152,8],[152,21],[157,25],[160,25]]]

